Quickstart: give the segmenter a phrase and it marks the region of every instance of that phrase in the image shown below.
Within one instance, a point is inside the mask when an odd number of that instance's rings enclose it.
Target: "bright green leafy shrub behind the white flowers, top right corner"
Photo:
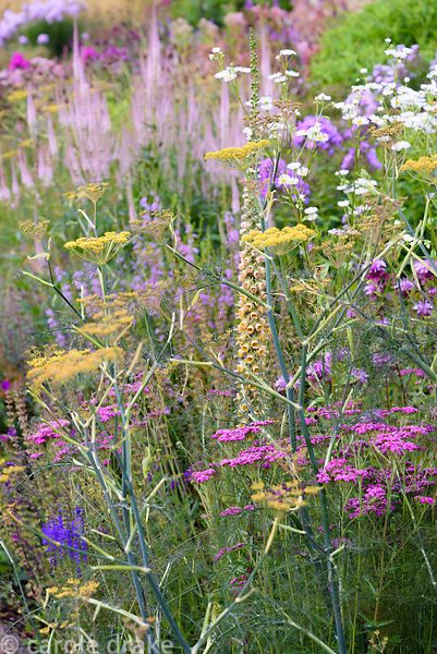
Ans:
[[[361,68],[372,70],[381,61],[385,43],[418,44],[422,57],[430,60],[436,51],[435,0],[378,0],[359,13],[345,13],[321,38],[320,51],[312,63],[317,83],[348,85]]]

